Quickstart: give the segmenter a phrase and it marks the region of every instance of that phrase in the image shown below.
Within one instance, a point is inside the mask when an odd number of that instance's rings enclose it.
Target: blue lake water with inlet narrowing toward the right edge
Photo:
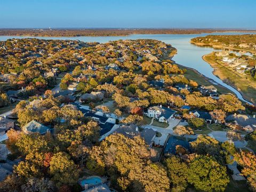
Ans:
[[[199,47],[193,44],[190,44],[189,41],[191,38],[198,36],[206,36],[206,35],[240,35],[240,34],[250,34],[250,33],[211,33],[211,34],[189,34],[189,35],[173,35],[173,34],[154,34],[154,35],[129,35],[129,36],[99,36],[99,37],[36,37],[42,39],[70,39],[70,40],[80,40],[83,42],[99,42],[106,43],[108,41],[115,41],[118,39],[157,39],[159,41],[163,41],[165,43],[171,44],[178,50],[178,54],[174,55],[173,60],[180,65],[194,68],[199,73],[203,74],[206,77],[213,79],[215,83],[221,84],[227,87],[229,90],[233,91],[237,97],[247,103],[252,104],[249,101],[246,101],[241,93],[239,93],[233,87],[227,85],[222,82],[221,79],[213,75],[213,68],[202,59],[202,56],[205,54],[209,54],[214,51],[211,47]],[[33,37],[25,37],[25,36],[0,36],[0,41],[5,41],[8,38],[33,38]],[[215,50],[216,51],[216,50]]]

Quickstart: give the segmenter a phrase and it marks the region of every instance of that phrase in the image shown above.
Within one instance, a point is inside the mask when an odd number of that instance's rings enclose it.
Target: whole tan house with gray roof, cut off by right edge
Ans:
[[[226,125],[234,127],[235,125],[241,126],[246,132],[253,132],[256,129],[256,118],[241,114],[233,114],[226,117]]]

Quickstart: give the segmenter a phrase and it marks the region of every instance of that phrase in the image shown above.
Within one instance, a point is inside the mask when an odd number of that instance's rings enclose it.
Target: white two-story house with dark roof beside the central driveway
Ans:
[[[173,115],[176,113],[177,111],[172,110],[170,108],[167,107],[162,107],[162,105],[158,106],[154,106],[154,107],[149,107],[147,110],[147,113],[145,113],[145,115],[147,115],[150,118],[156,118],[158,119],[159,122],[169,122],[171,118],[173,118]]]

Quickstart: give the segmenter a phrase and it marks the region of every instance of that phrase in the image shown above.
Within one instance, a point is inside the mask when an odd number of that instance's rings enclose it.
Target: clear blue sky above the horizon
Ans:
[[[0,0],[0,28],[253,28],[255,0]]]

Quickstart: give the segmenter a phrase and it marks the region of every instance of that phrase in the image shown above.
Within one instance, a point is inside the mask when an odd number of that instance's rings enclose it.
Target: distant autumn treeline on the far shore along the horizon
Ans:
[[[125,36],[131,34],[201,34],[227,31],[246,31],[239,29],[0,29],[0,36]],[[255,32],[256,30],[254,30]]]

